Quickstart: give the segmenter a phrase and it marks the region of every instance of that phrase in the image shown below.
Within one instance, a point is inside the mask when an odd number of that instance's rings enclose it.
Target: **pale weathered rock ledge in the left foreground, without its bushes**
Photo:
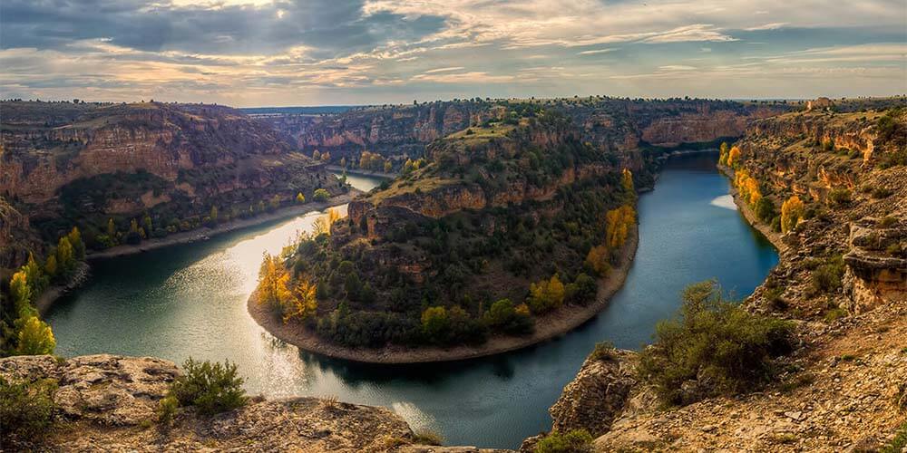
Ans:
[[[53,379],[55,423],[36,445],[4,450],[52,451],[402,451],[467,452],[478,448],[418,445],[406,422],[384,408],[336,400],[249,401],[214,417],[180,410],[172,425],[156,410],[180,370],[151,357],[49,355],[0,359],[5,379]]]

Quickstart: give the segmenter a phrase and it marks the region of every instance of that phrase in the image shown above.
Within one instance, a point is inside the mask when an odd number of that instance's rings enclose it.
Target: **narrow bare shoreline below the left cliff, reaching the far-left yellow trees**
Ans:
[[[362,191],[357,188],[350,188],[349,191],[345,194],[337,195],[336,197],[330,198],[325,202],[311,202],[303,205],[282,207],[275,210],[274,212],[265,215],[251,218],[241,218],[239,220],[230,220],[229,222],[219,225],[216,228],[199,228],[197,230],[184,231],[181,233],[175,233],[171,236],[161,237],[160,239],[149,239],[137,246],[115,246],[102,252],[87,254],[85,255],[85,260],[76,268],[76,271],[73,274],[73,278],[70,279],[70,282],[68,282],[67,284],[47,288],[44,293],[38,296],[38,298],[35,300],[34,307],[38,310],[38,313],[41,316],[44,316],[44,313],[47,313],[47,310],[50,309],[54,305],[54,302],[60,299],[60,297],[84,284],[91,274],[91,266],[88,264],[90,261],[113,258],[117,256],[137,255],[159,248],[180,246],[184,244],[192,244],[199,241],[205,241],[212,237],[231,233],[240,229],[258,226],[276,220],[283,220],[289,217],[296,217],[312,211],[320,211],[322,209],[326,209],[327,207],[343,205],[345,203],[349,203],[353,198],[356,198],[356,196],[361,193]],[[201,231],[202,229],[204,229],[204,231]]]

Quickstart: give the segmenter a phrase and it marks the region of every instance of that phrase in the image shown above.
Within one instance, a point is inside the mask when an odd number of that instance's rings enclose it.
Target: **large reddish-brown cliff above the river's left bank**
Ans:
[[[212,206],[229,217],[274,197],[288,202],[316,188],[343,190],[277,131],[227,107],[22,101],[0,107],[0,193],[29,213],[47,241],[80,226],[91,245],[110,217],[128,227],[130,217],[147,212],[162,231]],[[6,254],[4,265],[20,258]]]

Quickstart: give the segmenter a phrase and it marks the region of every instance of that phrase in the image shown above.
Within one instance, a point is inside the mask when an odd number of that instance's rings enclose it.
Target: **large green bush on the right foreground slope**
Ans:
[[[771,377],[773,358],[790,351],[791,332],[790,323],[727,302],[715,282],[692,284],[678,317],[658,323],[640,354],[640,375],[668,404],[752,390]]]

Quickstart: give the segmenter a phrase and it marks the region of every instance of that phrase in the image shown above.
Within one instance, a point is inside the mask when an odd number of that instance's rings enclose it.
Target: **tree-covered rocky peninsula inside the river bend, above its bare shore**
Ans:
[[[305,282],[317,310],[298,328],[370,348],[481,344],[530,334],[537,316],[560,307],[590,304],[593,275],[619,265],[635,228],[638,176],[615,153],[577,140],[568,118],[523,112],[532,116],[516,127],[493,121],[435,141],[430,159],[407,159],[402,176],[351,209],[355,219],[319,221],[268,264],[273,272],[263,275],[275,278],[260,280],[259,302],[289,299]],[[537,131],[557,139],[541,146]],[[511,197],[514,185],[524,197],[449,207]]]

